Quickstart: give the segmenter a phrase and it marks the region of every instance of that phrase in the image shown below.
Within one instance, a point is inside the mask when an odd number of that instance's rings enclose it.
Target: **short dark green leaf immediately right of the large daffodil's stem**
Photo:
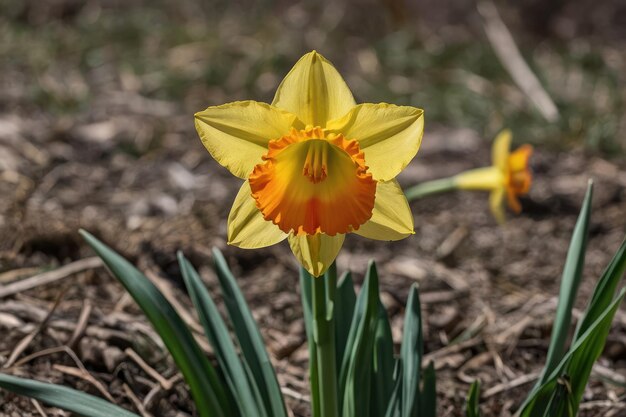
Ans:
[[[352,274],[346,272],[339,279],[335,294],[335,348],[339,365],[343,363],[355,305],[356,293],[354,292]],[[341,370],[338,369],[338,372],[341,372]],[[337,378],[339,378],[339,375],[337,375]]]

